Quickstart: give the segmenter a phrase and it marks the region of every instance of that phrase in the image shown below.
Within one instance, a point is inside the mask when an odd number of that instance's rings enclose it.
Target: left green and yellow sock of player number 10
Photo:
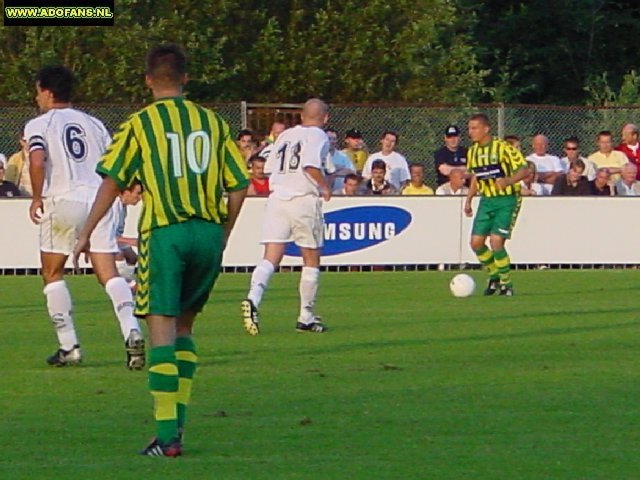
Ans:
[[[178,436],[178,366],[173,345],[153,347],[149,352],[149,390],[154,399],[158,440],[169,443]]]

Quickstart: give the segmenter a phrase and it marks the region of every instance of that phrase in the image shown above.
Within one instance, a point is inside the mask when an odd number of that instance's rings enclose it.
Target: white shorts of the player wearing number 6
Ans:
[[[44,200],[44,215],[40,223],[40,251],[71,255],[76,239],[91,211],[88,198],[50,197]],[[90,251],[117,253],[117,222],[114,209],[109,210],[91,234]]]

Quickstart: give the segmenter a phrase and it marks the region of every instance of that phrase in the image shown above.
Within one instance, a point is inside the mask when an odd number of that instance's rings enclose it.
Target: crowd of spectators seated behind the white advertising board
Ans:
[[[268,196],[269,176],[265,173],[270,146],[287,128],[273,122],[267,134],[241,130],[236,143],[251,172],[249,195]],[[466,195],[469,173],[466,170],[467,148],[462,145],[461,130],[447,125],[442,147],[430,158],[408,160],[398,151],[400,134],[393,130],[381,132],[378,148],[369,153],[363,134],[352,128],[341,136],[333,128],[326,129],[329,156],[325,173],[334,195]],[[620,143],[614,147],[614,135],[603,130],[595,136],[597,149],[583,155],[577,137],[566,138],[561,155],[549,151],[544,134],[530,139],[526,159],[530,173],[521,182],[525,196],[640,196],[640,130],[634,124],[625,125]],[[525,150],[526,139],[515,135],[504,138],[518,150]],[[29,177],[29,155],[24,132],[18,137],[17,152],[7,160],[0,154],[0,197],[29,197],[32,194]],[[400,150],[402,150],[400,148]],[[434,169],[435,185],[428,185],[425,169]]]

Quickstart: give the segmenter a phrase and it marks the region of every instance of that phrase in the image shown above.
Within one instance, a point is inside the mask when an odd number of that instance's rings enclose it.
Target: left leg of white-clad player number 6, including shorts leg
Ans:
[[[47,358],[54,366],[75,364],[82,353],[73,324],[73,303],[64,281],[64,267],[76,239],[76,226],[83,221],[83,205],[64,199],[45,200],[40,224],[40,264],[49,318],[58,337],[59,348]]]

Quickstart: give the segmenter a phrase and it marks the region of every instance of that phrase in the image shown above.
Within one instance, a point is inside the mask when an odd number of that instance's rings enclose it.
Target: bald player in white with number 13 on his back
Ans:
[[[265,172],[271,172],[271,195],[262,230],[264,257],[253,271],[249,294],[242,301],[244,326],[251,335],[260,331],[258,307],[262,295],[282,260],[285,245],[291,240],[300,247],[303,262],[296,330],[326,331],[313,306],[324,233],[320,195],[326,201],[331,198],[331,189],[323,174],[329,139],[322,127],[328,118],[326,103],[317,98],[308,100],[302,109],[302,124],[280,134],[265,164]]]

